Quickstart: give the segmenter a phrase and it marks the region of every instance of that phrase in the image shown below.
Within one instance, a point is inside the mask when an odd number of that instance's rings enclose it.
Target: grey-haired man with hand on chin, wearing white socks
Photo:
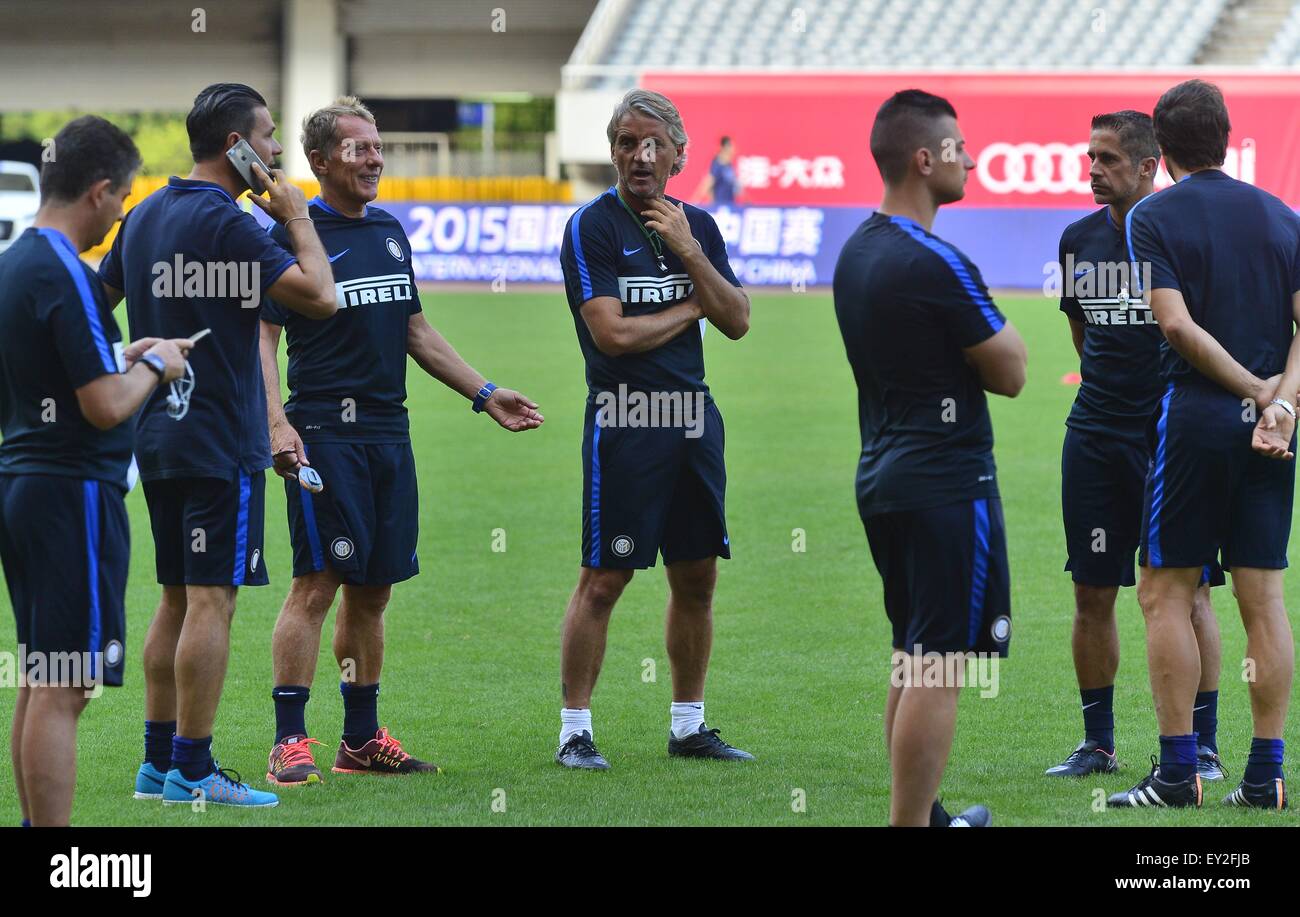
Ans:
[[[676,107],[633,90],[606,137],[618,185],[569,217],[560,250],[589,394],[582,568],[564,615],[555,760],[610,766],[595,749],[590,709],[610,614],[633,571],[660,553],[670,591],[668,754],[746,760],[705,726],[718,558],[731,548],[723,420],[705,385],[701,319],[740,339],[749,297],[714,219],[664,194],[686,163]],[[649,414],[647,403],[656,406]]]

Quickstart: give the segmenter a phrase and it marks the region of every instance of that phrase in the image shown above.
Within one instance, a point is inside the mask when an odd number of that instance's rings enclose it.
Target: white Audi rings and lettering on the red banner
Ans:
[[[1091,194],[1087,143],[991,143],[975,161],[980,185],[993,194]],[[1254,183],[1254,140],[1228,147],[1223,172]],[[1156,187],[1173,182],[1161,163]]]

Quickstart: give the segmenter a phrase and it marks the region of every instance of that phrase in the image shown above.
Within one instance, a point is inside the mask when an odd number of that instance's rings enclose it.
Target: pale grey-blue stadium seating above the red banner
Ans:
[[[618,5],[618,0],[603,0]],[[1226,0],[638,0],[594,60],[634,68],[1123,69],[1196,61]],[[1292,16],[1294,56],[1300,13]],[[593,22],[598,21],[593,17]],[[1282,36],[1279,36],[1280,40]]]

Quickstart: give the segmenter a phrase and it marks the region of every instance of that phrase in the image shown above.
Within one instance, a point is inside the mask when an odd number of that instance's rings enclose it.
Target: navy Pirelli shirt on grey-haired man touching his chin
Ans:
[[[664,198],[671,204],[681,202]],[[690,234],[714,268],[728,282],[740,286],[727,261],[727,243],[718,224],[706,211],[685,204]],[[633,207],[636,212],[636,207]],[[569,217],[560,247],[564,291],[573,312],[578,345],[586,360],[586,388],[592,398],[599,392],[703,392],[705,347],[702,332],[686,328],[667,343],[640,354],[608,356],[595,346],[582,319],[582,303],[597,297],[614,297],[623,303],[623,315],[662,312],[688,299],[696,285],[685,265],[667,243],[662,243],[663,265],[646,238],[640,215],[633,216],[619,203],[611,187],[588,202]]]

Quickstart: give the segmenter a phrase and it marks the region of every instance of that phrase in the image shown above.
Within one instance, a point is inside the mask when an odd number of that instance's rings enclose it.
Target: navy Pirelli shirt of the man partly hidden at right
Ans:
[[[1060,259],[1061,311],[1083,323],[1083,382],[1066,427],[1145,445],[1164,390],[1165,337],[1131,277],[1128,245],[1109,207],[1066,226]]]

